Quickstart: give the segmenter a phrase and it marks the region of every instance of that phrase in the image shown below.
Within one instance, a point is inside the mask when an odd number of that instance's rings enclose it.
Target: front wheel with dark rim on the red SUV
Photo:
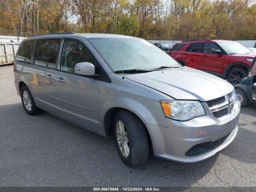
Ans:
[[[247,70],[244,68],[233,68],[228,72],[228,82],[233,86],[239,84],[240,81],[247,76]]]

